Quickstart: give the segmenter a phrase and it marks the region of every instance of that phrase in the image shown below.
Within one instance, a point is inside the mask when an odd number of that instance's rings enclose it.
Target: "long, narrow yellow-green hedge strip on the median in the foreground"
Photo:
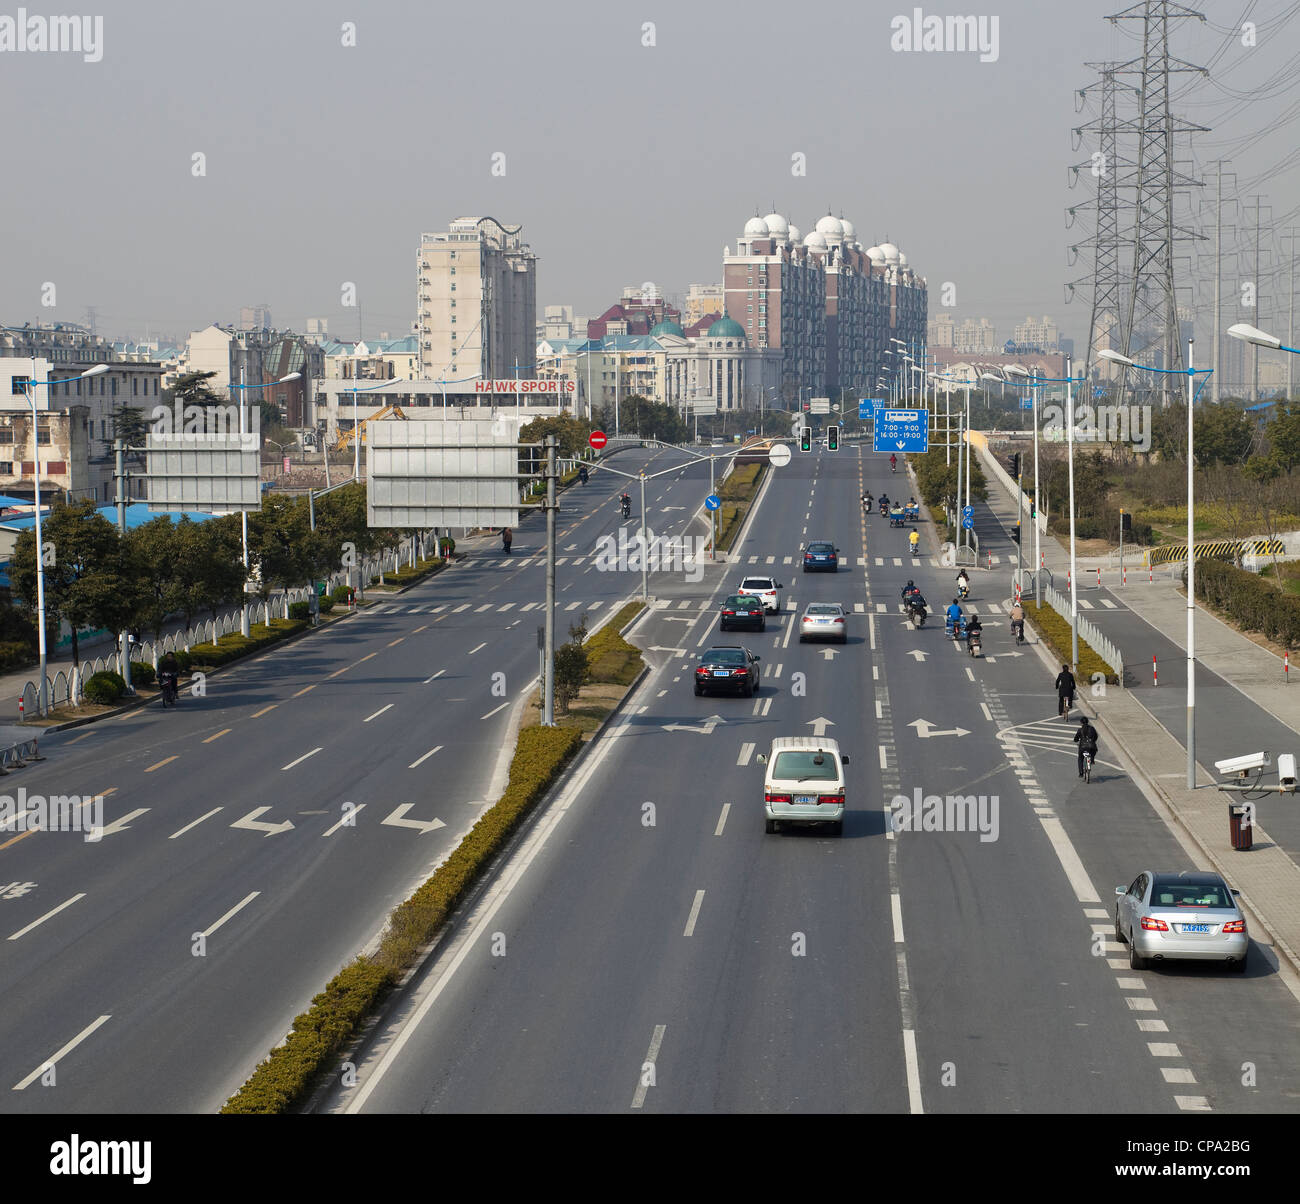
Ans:
[[[542,798],[582,744],[576,727],[526,727],[510,765],[510,781],[433,876],[398,906],[373,957],[344,966],[294,1021],[277,1045],[221,1109],[226,1114],[285,1112],[304,1099],[316,1075],[384,992],[437,935],[520,820]]]

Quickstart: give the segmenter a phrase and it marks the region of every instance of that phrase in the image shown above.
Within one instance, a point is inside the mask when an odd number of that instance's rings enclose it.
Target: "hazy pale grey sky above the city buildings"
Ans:
[[[1065,282],[1086,270],[1067,248],[1087,231],[1067,231],[1065,209],[1093,181],[1067,187],[1088,152],[1071,144],[1089,117],[1074,90],[1096,78],[1086,61],[1140,53],[1140,25],[1118,33],[1104,17],[1123,5],[1095,0],[920,7],[996,17],[987,62],[893,51],[892,21],[914,8],[893,0],[60,5],[27,10],[100,16],[103,57],[0,52],[0,321],[83,321],[95,306],[114,337],[183,337],[261,302],[280,326],[328,317],[355,337],[344,282],[367,335],[402,335],[420,231],[463,215],[521,222],[538,306],[594,315],[625,285],[720,280],[723,247],[775,204],[803,233],[829,207],[864,246],[898,243],[932,313],[952,281],[958,320],[991,317],[1009,338],[1050,313],[1082,338],[1087,300],[1066,306]],[[1183,107],[1214,126],[1196,163],[1231,157],[1265,225],[1300,225],[1300,172],[1274,170],[1300,157],[1283,70],[1300,20],[1279,20],[1296,8],[1210,3],[1209,23],[1174,39],[1216,62]],[[0,0],[0,21],[17,13]],[[1227,34],[1244,20],[1256,47]]]

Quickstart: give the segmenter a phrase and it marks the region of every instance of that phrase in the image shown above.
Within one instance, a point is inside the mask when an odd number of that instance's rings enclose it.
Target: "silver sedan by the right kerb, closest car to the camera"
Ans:
[[[1115,940],[1127,941],[1134,970],[1169,960],[1230,962],[1244,973],[1251,948],[1236,891],[1205,870],[1143,870],[1115,887]]]

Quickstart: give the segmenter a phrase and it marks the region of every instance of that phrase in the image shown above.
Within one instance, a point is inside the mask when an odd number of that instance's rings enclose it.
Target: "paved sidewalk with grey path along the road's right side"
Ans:
[[[989,484],[989,510],[1002,523],[1009,517],[1014,525],[1014,491],[1009,493],[993,473]],[[1028,563],[1034,555],[1032,528],[1026,542]],[[1069,554],[1054,538],[1043,538],[1043,551],[1057,576],[1057,589],[1063,592]],[[1079,563],[1082,568],[1083,562]],[[1274,793],[1260,800],[1254,846],[1239,853],[1228,839],[1227,804],[1240,796],[1214,789],[1217,779],[1204,768],[1206,761],[1257,748],[1268,748],[1274,765],[1278,753],[1300,752],[1300,683],[1288,687],[1278,657],[1197,606],[1197,788],[1188,789],[1183,744],[1187,599],[1179,593],[1179,579],[1175,575],[1171,580],[1166,569],[1164,577],[1157,572],[1148,581],[1147,571],[1140,569],[1130,571],[1128,584],[1122,585],[1118,572],[1108,575],[1102,567],[1102,581],[1113,588],[1098,589],[1095,572],[1091,585],[1087,580],[1080,572],[1076,589],[1080,614],[1087,614],[1119,645],[1130,687],[1109,689],[1104,697],[1089,700],[1104,739],[1121,748],[1130,776],[1156,810],[1188,837],[1199,852],[1200,867],[1213,867],[1240,889],[1252,913],[1256,941],[1271,940],[1279,961],[1300,974],[1300,798]],[[1102,598],[1117,605],[1098,607]],[[1083,605],[1084,599],[1092,603],[1091,609]],[[1160,649],[1158,687],[1150,684],[1153,648]],[[1251,739],[1256,742],[1249,748],[1240,744]],[[1240,746],[1210,752],[1212,744],[1231,741]],[[1274,780],[1275,776],[1274,772]],[[1277,840],[1269,835],[1270,824],[1277,826]]]

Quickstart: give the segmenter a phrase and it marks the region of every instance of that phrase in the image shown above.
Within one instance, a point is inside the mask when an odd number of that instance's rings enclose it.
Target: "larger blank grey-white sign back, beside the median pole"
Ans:
[[[511,424],[370,423],[365,506],[370,527],[515,527],[519,450]]]

